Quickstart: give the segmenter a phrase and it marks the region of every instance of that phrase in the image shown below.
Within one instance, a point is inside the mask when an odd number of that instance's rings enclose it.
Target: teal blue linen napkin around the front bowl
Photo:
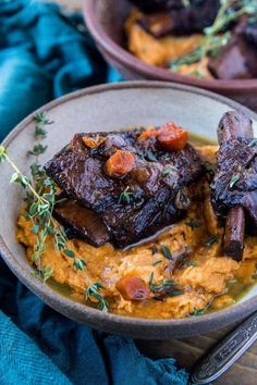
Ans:
[[[54,4],[0,0],[0,138],[65,92],[120,80],[83,27]],[[1,223],[2,225],[2,223]],[[173,359],[79,325],[41,302],[0,260],[0,384],[184,385]]]

